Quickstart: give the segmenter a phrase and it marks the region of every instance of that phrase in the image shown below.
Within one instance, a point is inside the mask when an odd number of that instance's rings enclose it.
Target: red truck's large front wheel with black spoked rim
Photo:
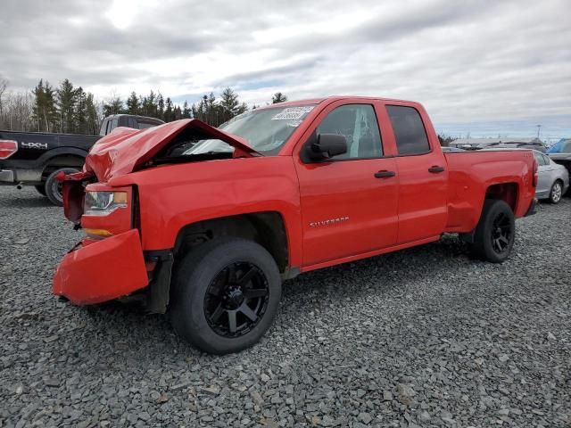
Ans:
[[[258,342],[272,324],[281,297],[275,260],[258,243],[220,238],[181,262],[169,315],[175,331],[213,354]]]

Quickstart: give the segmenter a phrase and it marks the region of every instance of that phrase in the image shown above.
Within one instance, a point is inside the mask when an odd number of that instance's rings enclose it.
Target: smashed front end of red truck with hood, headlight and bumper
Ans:
[[[233,146],[234,152],[225,156],[258,155],[242,138],[200,120],[186,119],[145,130],[116,128],[94,144],[82,172],[58,177],[64,215],[74,228],[83,228],[85,237],[56,268],[54,294],[77,305],[131,297],[142,300],[149,312],[166,311],[172,251],[145,251],[137,185],[119,185],[115,178],[165,161],[199,161],[212,156],[171,156],[172,147],[188,136]]]

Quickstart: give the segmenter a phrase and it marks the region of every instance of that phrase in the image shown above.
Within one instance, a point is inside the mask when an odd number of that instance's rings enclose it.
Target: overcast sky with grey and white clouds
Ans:
[[[101,99],[155,89],[194,102],[225,86],[250,104],[277,91],[378,95],[424,103],[437,128],[571,130],[568,0],[0,0],[0,11],[12,89],[70,78]]]

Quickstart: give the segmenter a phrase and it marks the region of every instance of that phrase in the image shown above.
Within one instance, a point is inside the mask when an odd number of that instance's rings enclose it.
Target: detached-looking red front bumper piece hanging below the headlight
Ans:
[[[55,269],[53,292],[76,305],[114,300],[149,284],[137,229],[70,251]]]

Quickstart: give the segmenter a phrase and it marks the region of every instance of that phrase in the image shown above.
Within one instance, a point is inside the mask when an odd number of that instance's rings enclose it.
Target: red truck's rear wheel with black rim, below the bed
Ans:
[[[500,200],[485,200],[472,244],[475,255],[501,263],[509,258],[515,237],[516,219],[509,205]]]

